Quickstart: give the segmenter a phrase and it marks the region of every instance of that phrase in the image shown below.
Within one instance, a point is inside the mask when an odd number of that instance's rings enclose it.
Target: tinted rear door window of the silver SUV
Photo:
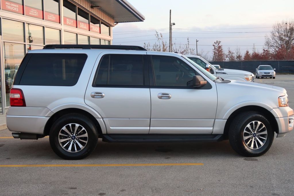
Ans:
[[[143,55],[106,55],[100,62],[96,85],[144,85]]]

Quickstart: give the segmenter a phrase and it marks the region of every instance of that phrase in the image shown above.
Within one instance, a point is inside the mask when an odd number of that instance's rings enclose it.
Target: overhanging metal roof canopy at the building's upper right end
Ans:
[[[145,16],[126,0],[89,0],[114,17],[115,22],[142,22]]]

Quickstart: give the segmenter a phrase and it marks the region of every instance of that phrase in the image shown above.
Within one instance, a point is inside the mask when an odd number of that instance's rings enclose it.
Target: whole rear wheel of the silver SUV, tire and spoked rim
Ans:
[[[63,159],[78,160],[95,150],[98,130],[95,124],[81,114],[66,114],[57,119],[50,129],[52,150]]]

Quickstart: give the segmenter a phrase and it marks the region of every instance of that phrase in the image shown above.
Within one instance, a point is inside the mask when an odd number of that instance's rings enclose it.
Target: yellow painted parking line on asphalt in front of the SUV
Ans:
[[[203,165],[203,163],[0,165],[0,167],[129,167],[129,166],[188,166],[188,165]]]

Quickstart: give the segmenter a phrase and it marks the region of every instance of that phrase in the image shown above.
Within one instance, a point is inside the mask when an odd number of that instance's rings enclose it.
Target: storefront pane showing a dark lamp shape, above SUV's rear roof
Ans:
[[[44,44],[43,26],[26,23],[26,43]]]

